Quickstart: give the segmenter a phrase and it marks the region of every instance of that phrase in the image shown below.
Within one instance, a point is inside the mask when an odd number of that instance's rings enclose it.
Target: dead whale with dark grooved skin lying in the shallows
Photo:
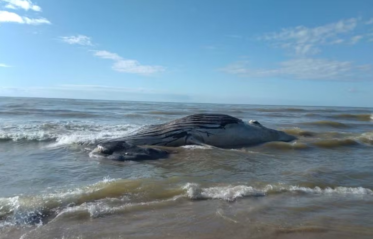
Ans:
[[[101,140],[91,156],[136,161],[163,158],[170,153],[151,146],[200,145],[232,149],[296,139],[291,134],[267,128],[257,120],[245,122],[226,114],[192,114],[163,124],[144,125],[123,137]]]

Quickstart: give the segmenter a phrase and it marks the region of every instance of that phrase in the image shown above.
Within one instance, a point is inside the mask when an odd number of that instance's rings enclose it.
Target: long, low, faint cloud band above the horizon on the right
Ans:
[[[278,68],[253,69],[247,61],[223,68],[229,74],[253,78],[285,77],[300,80],[354,81],[372,79],[370,65],[354,65],[349,61],[301,58],[280,62]]]

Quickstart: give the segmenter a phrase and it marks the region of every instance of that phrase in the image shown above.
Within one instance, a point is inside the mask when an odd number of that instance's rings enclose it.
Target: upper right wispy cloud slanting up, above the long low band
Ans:
[[[266,33],[258,37],[258,40],[269,41],[275,47],[290,49],[296,55],[314,55],[321,51],[322,45],[342,43],[341,38],[353,32],[357,24],[357,18],[350,18],[312,28],[283,28],[279,32]]]

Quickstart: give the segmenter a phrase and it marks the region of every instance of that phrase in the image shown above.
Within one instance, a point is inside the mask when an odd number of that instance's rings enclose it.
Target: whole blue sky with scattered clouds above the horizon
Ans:
[[[0,96],[373,107],[372,0],[0,0]]]

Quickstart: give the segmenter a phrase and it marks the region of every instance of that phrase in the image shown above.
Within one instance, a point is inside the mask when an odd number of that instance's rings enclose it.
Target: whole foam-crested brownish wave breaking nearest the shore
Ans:
[[[177,183],[175,179],[110,179],[72,190],[60,190],[41,195],[0,198],[0,227],[15,224],[45,224],[64,214],[86,212],[99,217],[143,209],[152,205],[169,205],[184,198],[189,200],[221,199],[235,201],[248,196],[261,197],[278,193],[319,195],[373,196],[364,187],[303,187],[286,184],[215,184]],[[171,184],[172,183],[172,184]],[[171,186],[173,185],[173,186]]]

